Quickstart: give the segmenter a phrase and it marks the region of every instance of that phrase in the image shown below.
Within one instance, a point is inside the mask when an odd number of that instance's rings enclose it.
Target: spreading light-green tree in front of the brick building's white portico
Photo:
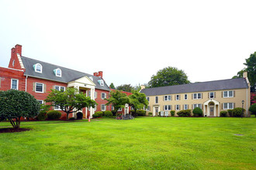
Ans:
[[[77,112],[84,107],[95,107],[95,100],[86,97],[85,93],[79,93],[78,89],[68,87],[66,91],[51,90],[47,96],[46,102],[51,102],[53,106],[58,106],[68,114]]]

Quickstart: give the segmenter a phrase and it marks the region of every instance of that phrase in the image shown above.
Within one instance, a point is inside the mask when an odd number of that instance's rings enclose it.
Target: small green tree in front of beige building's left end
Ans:
[[[129,104],[130,107],[133,107],[134,112],[136,113],[136,110],[147,107],[148,100],[146,99],[146,94],[134,91],[129,97],[127,97],[126,103]]]

